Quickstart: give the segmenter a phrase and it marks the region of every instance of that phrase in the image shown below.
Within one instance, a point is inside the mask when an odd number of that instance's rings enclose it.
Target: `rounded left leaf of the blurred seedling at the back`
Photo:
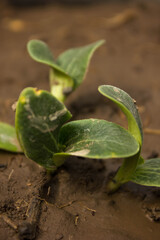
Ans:
[[[51,50],[43,41],[34,39],[30,40],[27,44],[27,50],[31,58],[33,58],[35,61],[46,64],[67,75],[64,70],[56,64]]]

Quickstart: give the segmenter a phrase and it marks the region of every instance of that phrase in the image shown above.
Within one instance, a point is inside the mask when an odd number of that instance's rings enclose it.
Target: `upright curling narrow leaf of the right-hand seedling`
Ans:
[[[102,95],[115,102],[121,108],[128,119],[128,130],[142,145],[142,124],[135,101],[126,92],[117,87],[102,85],[98,90]]]

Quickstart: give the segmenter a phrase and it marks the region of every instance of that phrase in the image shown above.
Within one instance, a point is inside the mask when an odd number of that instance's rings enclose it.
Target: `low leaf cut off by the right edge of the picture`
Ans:
[[[160,187],[160,158],[149,159],[139,165],[130,181],[145,186]]]

